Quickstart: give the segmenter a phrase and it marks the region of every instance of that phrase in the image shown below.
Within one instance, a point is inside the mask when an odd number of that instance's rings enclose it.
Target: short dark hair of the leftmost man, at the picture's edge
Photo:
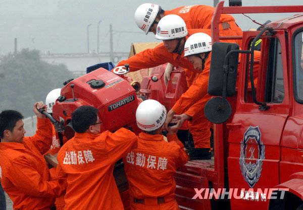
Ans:
[[[15,110],[5,110],[0,113],[0,138],[3,138],[4,131],[13,131],[16,122],[23,119],[23,115]]]

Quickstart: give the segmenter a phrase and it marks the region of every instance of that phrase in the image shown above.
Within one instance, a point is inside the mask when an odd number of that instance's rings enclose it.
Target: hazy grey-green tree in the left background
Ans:
[[[0,111],[14,109],[25,117],[33,115],[35,101],[45,103],[49,91],[62,88],[73,77],[65,65],[46,63],[38,50],[29,49],[4,57],[0,73]]]

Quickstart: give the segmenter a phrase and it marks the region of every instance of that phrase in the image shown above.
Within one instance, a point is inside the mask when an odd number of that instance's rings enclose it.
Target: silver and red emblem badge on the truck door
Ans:
[[[264,159],[265,145],[261,139],[259,126],[249,126],[241,141],[239,162],[242,176],[251,188],[260,179]]]

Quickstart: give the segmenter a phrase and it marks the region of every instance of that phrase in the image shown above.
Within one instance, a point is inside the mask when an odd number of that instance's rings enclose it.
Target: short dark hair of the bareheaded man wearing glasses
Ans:
[[[98,109],[92,106],[80,106],[72,113],[72,126],[78,133],[84,133],[90,125],[97,122]]]

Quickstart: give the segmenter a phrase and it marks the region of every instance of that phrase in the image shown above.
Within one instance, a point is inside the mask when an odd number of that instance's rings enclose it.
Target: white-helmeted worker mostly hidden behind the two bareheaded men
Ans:
[[[47,110],[46,112],[50,115],[53,116],[53,106],[56,103],[56,100],[60,96],[61,93],[61,88],[57,88],[49,92],[46,96],[45,99],[45,104],[47,105]],[[51,149],[48,150],[47,153],[51,155],[56,155],[60,148],[61,148],[61,141],[62,144],[65,144],[67,142],[67,138],[63,135],[63,133],[58,133],[56,132],[55,126],[52,124],[53,127],[53,144],[51,146]],[[49,169],[49,173],[51,174],[52,179],[57,179],[57,174],[56,174],[56,168],[51,168]],[[65,193],[63,193],[60,197],[56,197],[55,205],[56,205],[56,210],[63,210],[65,206],[64,202],[64,196]]]

